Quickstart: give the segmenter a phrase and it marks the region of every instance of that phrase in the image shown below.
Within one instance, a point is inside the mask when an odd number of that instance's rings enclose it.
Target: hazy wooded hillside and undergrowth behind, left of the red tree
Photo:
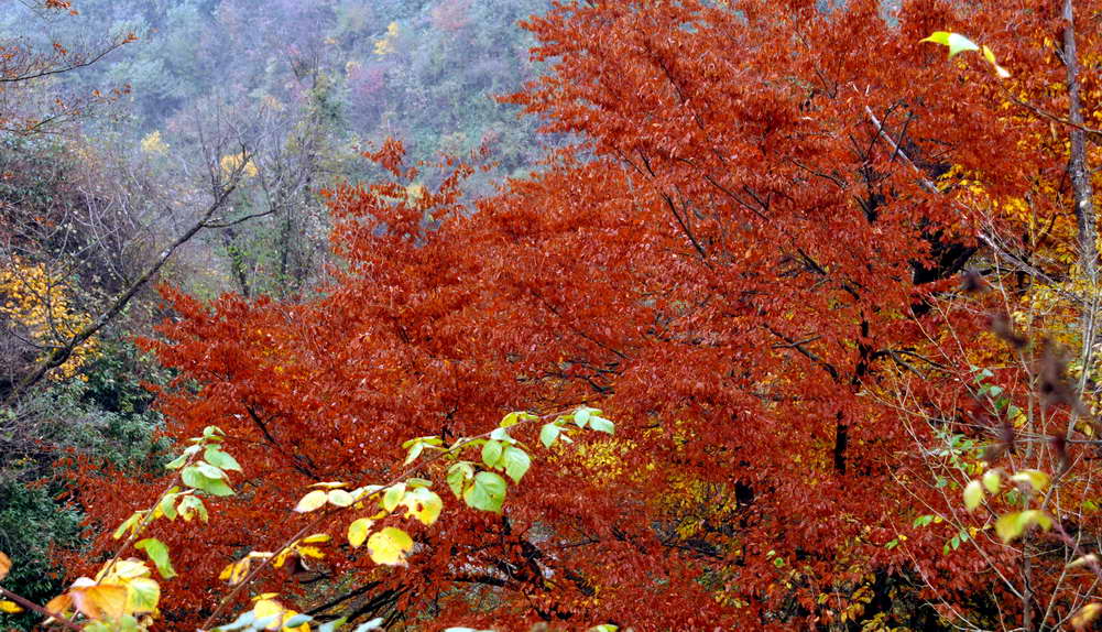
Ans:
[[[94,0],[71,14],[3,2],[7,50],[41,54],[42,67],[55,62],[51,69],[71,65],[51,58],[55,42],[88,57],[73,65],[106,55],[0,95],[0,394],[7,398],[43,350],[142,277],[206,210],[209,169],[234,153],[255,153],[253,168],[225,223],[249,219],[188,240],[159,280],[206,298],[298,297],[316,287],[332,260],[320,192],[377,176],[360,153],[389,136],[417,160],[485,146],[498,175],[534,165],[548,141],[537,138],[534,120],[494,97],[534,76],[533,39],[517,22],[547,7]],[[491,190],[487,174],[473,190]],[[8,302],[18,296],[22,302]],[[131,472],[168,460],[156,439],[164,420],[142,383],[169,374],[133,344],[162,315],[143,286],[62,377],[4,411],[0,550],[13,555],[11,581],[30,598],[60,586],[52,551],[85,542],[82,512],[58,495],[56,459],[79,454]],[[0,626],[11,623],[0,614]]]

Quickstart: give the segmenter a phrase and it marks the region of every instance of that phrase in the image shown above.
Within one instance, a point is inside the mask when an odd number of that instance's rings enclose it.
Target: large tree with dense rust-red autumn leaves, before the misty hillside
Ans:
[[[404,439],[580,403],[617,437],[537,460],[504,515],[445,513],[406,570],[334,551],[326,571],[369,587],[341,603],[506,628],[790,630],[836,618],[817,598],[869,574],[917,570],[950,599],[983,586],[1007,560],[942,557],[943,537],[910,528],[916,499],[939,496],[897,483],[920,454],[873,395],[940,344],[931,301],[977,246],[976,218],[931,182],[958,165],[1019,193],[1062,158],[1023,154],[1048,124],[1006,117],[982,60],[947,66],[918,42],[966,28],[1029,89],[1058,72],[1038,52],[1057,15],[819,4],[557,7],[528,24],[551,72],[511,100],[582,144],[475,208],[465,168],[410,197],[419,173],[388,144],[374,158],[393,183],[332,194],[347,265],[321,298],[168,291],[179,318],[152,346],[181,372],[169,431],[219,425],[248,479],[216,527],[164,534],[191,574],[166,614],[207,604],[242,548],[294,533],[305,485],[385,480]],[[86,500],[115,519],[139,488]],[[885,547],[901,533],[906,551]]]

